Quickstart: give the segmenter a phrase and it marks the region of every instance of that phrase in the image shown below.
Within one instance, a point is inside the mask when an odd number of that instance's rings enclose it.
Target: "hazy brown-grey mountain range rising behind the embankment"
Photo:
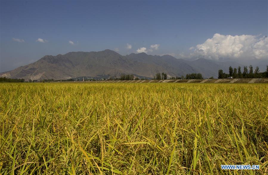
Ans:
[[[204,77],[217,77],[218,70],[228,72],[235,62],[216,62],[206,59],[187,61],[170,55],[147,55],[146,53],[120,55],[106,49],[100,52],[69,52],[65,55],[46,55],[38,61],[0,73],[2,77],[25,80],[64,79],[64,77],[110,78],[116,73],[134,74],[153,78],[157,72],[166,72],[169,77],[188,73],[202,73]]]

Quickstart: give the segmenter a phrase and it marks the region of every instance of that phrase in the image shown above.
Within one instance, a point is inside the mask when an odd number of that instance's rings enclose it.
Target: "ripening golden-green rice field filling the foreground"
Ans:
[[[1,83],[0,174],[267,174],[267,89]]]

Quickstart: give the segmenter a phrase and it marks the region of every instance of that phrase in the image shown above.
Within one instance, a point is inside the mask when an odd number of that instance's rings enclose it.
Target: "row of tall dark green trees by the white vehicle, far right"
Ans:
[[[241,67],[233,68],[232,66],[229,67],[229,74],[224,73],[222,69],[218,72],[218,78],[268,78],[268,65],[266,66],[265,72],[260,72],[259,67],[257,66],[255,70],[253,70],[252,65],[249,66],[249,70],[247,66],[244,66],[243,72],[241,71]]]

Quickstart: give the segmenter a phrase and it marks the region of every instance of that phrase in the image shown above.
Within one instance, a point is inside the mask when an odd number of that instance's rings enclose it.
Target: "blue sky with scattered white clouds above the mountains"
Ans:
[[[0,1],[0,72],[114,50],[268,64],[268,1]]]

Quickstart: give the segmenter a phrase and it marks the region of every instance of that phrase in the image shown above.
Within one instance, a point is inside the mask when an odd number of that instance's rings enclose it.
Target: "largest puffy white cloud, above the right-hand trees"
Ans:
[[[260,35],[214,34],[203,44],[198,44],[191,56],[207,59],[264,59],[268,55],[268,38]]]

